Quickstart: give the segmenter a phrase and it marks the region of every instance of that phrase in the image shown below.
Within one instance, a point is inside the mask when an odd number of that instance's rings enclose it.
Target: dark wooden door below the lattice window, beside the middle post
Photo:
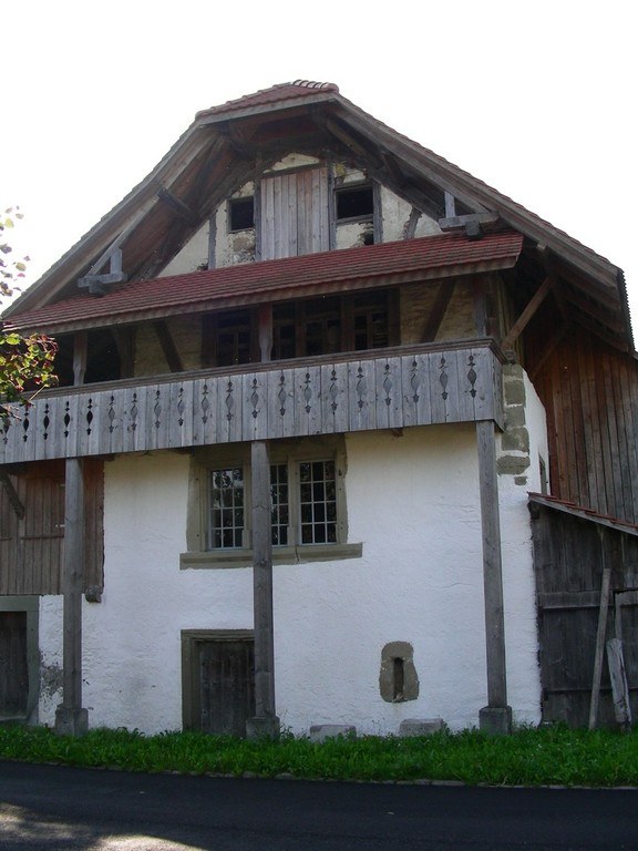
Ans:
[[[199,722],[203,732],[246,736],[255,716],[255,645],[251,638],[199,644]]]

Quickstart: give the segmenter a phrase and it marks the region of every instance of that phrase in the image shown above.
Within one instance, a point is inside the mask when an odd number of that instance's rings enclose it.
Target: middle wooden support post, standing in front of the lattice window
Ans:
[[[246,722],[248,738],[279,735],[275,711],[275,640],[272,629],[272,539],[268,444],[250,447],[253,484],[253,601],[255,611],[255,718]]]

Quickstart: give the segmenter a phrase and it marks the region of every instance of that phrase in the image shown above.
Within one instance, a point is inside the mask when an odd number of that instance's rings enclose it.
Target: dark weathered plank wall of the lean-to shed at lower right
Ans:
[[[634,717],[638,711],[638,535],[532,503],[532,539],[538,609],[543,720],[586,727],[596,650],[604,564],[611,567],[607,638],[619,632]],[[601,547],[605,547],[603,553]],[[607,662],[603,665],[598,725],[615,724]]]

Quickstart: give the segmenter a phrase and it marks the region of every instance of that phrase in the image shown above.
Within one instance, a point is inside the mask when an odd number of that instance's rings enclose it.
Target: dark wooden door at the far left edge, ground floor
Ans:
[[[24,717],[28,698],[27,612],[0,612],[0,718]]]

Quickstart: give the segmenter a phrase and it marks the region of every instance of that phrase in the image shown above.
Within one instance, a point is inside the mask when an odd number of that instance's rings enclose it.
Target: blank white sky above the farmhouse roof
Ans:
[[[620,266],[638,324],[628,0],[7,0],[1,21],[0,205],[25,214],[29,281],[197,110],[301,78]]]

